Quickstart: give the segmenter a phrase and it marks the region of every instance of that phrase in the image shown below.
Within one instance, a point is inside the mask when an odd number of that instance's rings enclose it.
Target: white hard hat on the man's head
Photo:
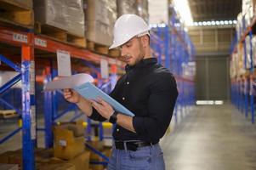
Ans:
[[[120,16],[114,26],[114,41],[111,48],[117,48],[132,37],[149,35],[150,27],[145,20],[136,14],[123,14]]]

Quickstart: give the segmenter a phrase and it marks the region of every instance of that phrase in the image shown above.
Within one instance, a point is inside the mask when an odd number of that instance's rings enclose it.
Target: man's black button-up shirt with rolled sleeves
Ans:
[[[172,73],[151,58],[134,66],[127,65],[126,74],[117,81],[110,95],[135,115],[136,133],[117,125],[114,139],[158,142],[172,119],[178,90]],[[95,109],[90,118],[105,121]]]

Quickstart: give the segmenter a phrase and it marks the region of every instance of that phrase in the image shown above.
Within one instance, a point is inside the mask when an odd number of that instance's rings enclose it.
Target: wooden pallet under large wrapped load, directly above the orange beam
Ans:
[[[41,34],[43,36],[52,38],[60,42],[66,42],[71,45],[75,45],[81,48],[86,48],[85,37],[77,37],[75,35],[70,34],[67,31],[61,30],[60,28],[56,28],[54,26],[48,26],[48,25],[36,22],[35,32],[37,34]]]

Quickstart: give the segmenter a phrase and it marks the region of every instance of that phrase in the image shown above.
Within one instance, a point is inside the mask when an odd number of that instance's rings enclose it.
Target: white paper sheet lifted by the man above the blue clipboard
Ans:
[[[71,77],[61,77],[58,80],[48,82],[44,88],[44,91],[74,88],[82,85],[84,82],[94,82],[94,77],[85,73],[72,75]]]

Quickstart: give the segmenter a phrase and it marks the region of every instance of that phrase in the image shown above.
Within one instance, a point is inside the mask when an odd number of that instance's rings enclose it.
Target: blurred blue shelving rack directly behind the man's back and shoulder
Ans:
[[[190,37],[179,21],[174,8],[170,8],[172,17],[169,26],[153,28],[151,47],[158,62],[167,67],[177,81],[179,97],[174,110],[174,120],[178,124],[179,117],[188,113],[188,108],[195,105],[194,75],[185,76],[185,67],[194,61],[195,48]],[[180,116],[178,115],[180,113]]]

